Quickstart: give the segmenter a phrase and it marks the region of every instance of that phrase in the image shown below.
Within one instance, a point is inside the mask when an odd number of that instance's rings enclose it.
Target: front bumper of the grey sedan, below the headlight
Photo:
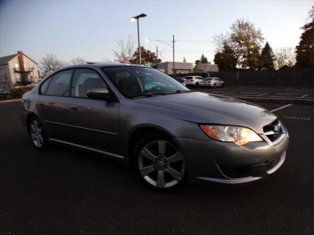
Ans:
[[[277,171],[286,159],[288,132],[279,142],[250,142],[239,146],[222,142],[175,138],[182,150],[189,181],[241,184],[262,179]]]

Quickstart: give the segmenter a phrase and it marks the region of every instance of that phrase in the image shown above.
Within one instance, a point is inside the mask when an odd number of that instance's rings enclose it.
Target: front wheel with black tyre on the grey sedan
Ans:
[[[167,136],[151,134],[135,148],[134,163],[142,182],[156,190],[176,188],[183,182],[185,162],[177,145]]]

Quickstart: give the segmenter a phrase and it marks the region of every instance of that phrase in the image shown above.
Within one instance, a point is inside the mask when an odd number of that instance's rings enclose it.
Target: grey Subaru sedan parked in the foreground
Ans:
[[[22,102],[22,123],[37,149],[56,143],[131,164],[156,190],[178,187],[184,179],[251,182],[286,159],[287,129],[268,110],[192,92],[141,65],[63,68]]]

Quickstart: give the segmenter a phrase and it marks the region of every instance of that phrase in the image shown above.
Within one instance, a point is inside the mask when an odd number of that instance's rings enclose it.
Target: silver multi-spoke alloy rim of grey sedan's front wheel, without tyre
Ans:
[[[177,185],[184,176],[182,153],[171,142],[158,140],[147,143],[138,156],[138,168],[143,178],[157,188]]]

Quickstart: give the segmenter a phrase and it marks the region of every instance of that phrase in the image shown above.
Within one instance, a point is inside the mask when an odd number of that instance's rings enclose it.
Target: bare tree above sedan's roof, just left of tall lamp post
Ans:
[[[135,52],[134,44],[135,41],[129,35],[127,39],[120,38],[114,40],[117,47],[112,49],[113,52],[113,60],[104,59],[107,62],[118,62],[118,63],[125,63],[131,64],[131,60],[133,58],[133,54]]]

